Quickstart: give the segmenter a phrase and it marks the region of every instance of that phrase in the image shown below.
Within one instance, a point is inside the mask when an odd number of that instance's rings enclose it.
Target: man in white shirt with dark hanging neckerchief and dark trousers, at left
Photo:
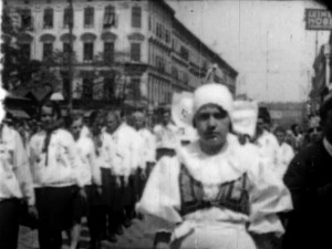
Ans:
[[[85,196],[75,142],[60,127],[58,105],[46,102],[41,107],[42,131],[30,141],[30,162],[39,212],[41,249],[60,249],[62,230],[81,221],[81,203]]]

